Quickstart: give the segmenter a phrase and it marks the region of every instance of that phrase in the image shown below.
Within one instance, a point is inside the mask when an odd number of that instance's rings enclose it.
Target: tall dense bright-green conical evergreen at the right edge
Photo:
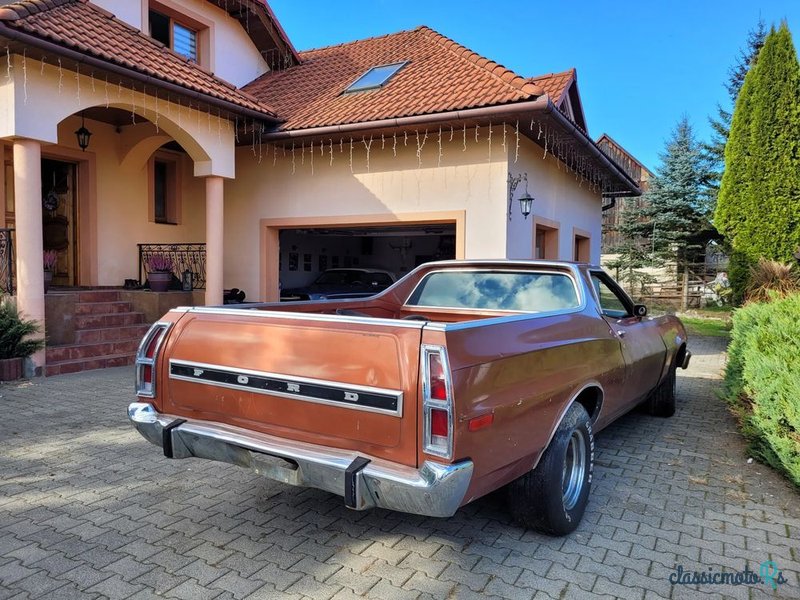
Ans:
[[[790,261],[800,246],[800,64],[786,23],[739,93],[714,222],[751,260]]]

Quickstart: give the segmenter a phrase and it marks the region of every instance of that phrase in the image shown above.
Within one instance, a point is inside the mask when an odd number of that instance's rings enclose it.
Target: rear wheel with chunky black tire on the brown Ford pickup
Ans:
[[[508,485],[511,514],[548,535],[566,535],[581,522],[594,468],[594,434],[586,409],[573,404],[536,468]]]

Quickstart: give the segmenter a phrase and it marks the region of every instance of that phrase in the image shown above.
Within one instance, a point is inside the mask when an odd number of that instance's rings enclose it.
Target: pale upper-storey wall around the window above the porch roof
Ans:
[[[92,1],[116,15],[121,21],[148,34],[149,0]],[[231,0],[231,4],[233,1]],[[217,77],[241,87],[269,71],[266,61],[241,24],[221,8],[213,6],[206,0],[158,0],[158,2],[207,28],[207,31],[202,32],[200,36],[201,46],[207,46],[200,50],[201,59],[204,59],[201,60],[201,64]],[[234,48],[235,55],[232,55]],[[209,64],[203,64],[205,62]]]

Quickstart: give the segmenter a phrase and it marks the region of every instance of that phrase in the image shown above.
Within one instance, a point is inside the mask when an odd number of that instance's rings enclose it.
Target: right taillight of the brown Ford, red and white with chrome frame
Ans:
[[[453,384],[442,346],[422,347],[423,449],[453,458]]]

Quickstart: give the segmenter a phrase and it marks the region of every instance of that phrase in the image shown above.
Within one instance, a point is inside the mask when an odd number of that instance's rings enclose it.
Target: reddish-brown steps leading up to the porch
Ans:
[[[45,349],[45,375],[131,365],[149,325],[113,290],[86,291],[75,304],[75,343]]]

